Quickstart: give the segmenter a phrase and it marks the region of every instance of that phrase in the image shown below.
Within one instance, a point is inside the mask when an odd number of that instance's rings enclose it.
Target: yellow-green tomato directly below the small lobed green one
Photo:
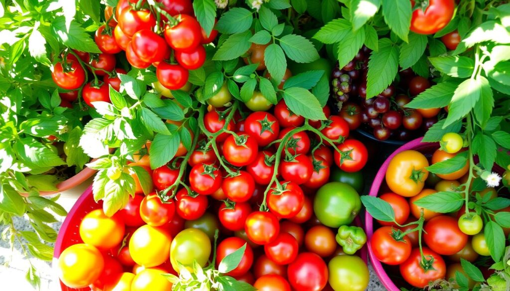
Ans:
[[[336,256],[329,261],[327,269],[329,285],[335,291],[363,291],[368,286],[368,267],[359,256]]]

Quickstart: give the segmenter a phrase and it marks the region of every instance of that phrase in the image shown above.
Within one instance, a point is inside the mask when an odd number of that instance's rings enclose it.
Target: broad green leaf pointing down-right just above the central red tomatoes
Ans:
[[[284,91],[285,103],[297,115],[312,120],[324,120],[326,116],[317,98],[304,88],[288,88]]]

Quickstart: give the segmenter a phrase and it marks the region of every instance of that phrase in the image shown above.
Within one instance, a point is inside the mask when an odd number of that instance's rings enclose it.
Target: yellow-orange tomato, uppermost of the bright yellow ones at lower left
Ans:
[[[106,216],[103,209],[90,211],[80,223],[83,242],[101,250],[115,247],[124,238],[124,222],[120,214]]]

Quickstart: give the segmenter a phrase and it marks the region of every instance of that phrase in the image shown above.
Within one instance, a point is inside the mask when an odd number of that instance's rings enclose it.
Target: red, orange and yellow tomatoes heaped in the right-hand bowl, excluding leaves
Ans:
[[[445,135],[443,142],[446,146],[433,152],[430,165],[446,161],[463,151],[462,138],[455,136],[458,135]],[[370,241],[375,257],[389,269],[398,266],[402,278],[417,288],[424,288],[429,282],[439,279],[455,279],[456,272],[469,278],[461,266],[461,259],[474,262],[478,256],[490,255],[482,231],[482,219],[474,210],[469,216],[464,206],[454,213],[442,214],[415,204],[437,192],[458,191],[468,180],[469,161],[461,169],[447,174],[429,173],[425,169],[428,166],[427,157],[415,150],[406,150],[393,157],[386,172],[386,184],[378,197],[391,205],[398,225],[377,221],[380,226],[376,227]],[[486,188],[479,194],[482,199],[484,196],[497,197],[494,188]],[[419,219],[424,220],[421,234],[417,224],[409,224]],[[505,229],[505,232],[509,230]],[[423,258],[428,263],[423,264]],[[485,271],[489,272],[489,269]],[[472,288],[475,282],[471,278],[468,281]]]

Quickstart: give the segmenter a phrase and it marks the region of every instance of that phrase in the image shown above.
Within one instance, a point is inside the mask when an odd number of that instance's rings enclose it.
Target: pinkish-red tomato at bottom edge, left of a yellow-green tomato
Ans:
[[[328,279],[324,260],[314,253],[300,253],[287,269],[289,282],[295,290],[322,290]]]

